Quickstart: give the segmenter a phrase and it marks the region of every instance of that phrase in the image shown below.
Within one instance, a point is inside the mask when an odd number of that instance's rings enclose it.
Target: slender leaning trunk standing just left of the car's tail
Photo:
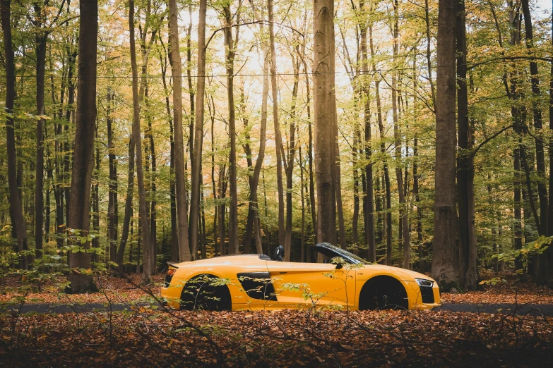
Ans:
[[[133,128],[132,134],[136,155],[136,180],[138,184],[138,212],[140,218],[141,242],[143,244],[143,283],[150,283],[152,274],[153,249],[150,244],[150,223],[146,214],[146,193],[142,164],[142,139],[140,132],[140,97],[138,94],[138,67],[136,66],[136,46],[134,39],[134,1],[129,1],[129,33],[131,44],[131,68],[133,73]]]

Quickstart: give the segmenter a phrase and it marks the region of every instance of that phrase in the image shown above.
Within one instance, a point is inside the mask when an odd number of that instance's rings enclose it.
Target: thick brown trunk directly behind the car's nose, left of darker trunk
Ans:
[[[436,85],[436,184],[432,276],[456,282],[456,4],[439,0]]]

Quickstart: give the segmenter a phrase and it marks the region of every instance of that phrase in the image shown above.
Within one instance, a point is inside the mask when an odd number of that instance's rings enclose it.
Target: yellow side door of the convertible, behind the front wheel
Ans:
[[[276,294],[271,305],[355,305],[356,272],[347,265],[268,261],[267,269]]]

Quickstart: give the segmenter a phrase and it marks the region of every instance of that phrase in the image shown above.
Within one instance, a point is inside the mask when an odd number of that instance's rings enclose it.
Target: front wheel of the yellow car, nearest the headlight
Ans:
[[[376,276],[359,293],[359,310],[408,309],[407,291],[396,278]]]

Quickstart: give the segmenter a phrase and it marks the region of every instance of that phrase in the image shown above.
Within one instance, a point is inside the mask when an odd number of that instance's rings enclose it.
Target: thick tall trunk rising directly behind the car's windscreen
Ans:
[[[313,8],[313,84],[317,240],[336,242],[334,1],[315,0]],[[321,262],[321,254],[319,254]]]

